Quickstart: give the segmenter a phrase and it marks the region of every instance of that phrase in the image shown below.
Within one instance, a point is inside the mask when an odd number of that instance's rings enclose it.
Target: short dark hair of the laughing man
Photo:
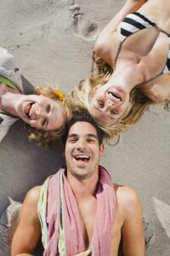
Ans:
[[[99,125],[97,125],[94,118],[87,111],[83,110],[83,111],[75,111],[72,114],[72,118],[65,125],[65,131],[64,131],[63,135],[61,136],[61,142],[63,143],[64,148],[65,148],[65,143],[66,143],[69,131],[71,129],[71,126],[77,122],[87,122],[87,123],[93,125],[97,131],[99,145],[101,145],[101,143],[103,142],[103,140],[105,138],[105,131],[103,131],[99,127]]]

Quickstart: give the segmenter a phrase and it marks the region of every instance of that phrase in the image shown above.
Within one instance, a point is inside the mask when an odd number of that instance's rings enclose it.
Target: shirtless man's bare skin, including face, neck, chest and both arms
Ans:
[[[71,184],[82,220],[82,234],[86,252],[74,256],[89,255],[94,221],[96,218],[97,201],[95,190],[99,181],[99,156],[104,152],[103,143],[99,146],[94,126],[89,123],[77,122],[71,126],[65,146],[67,179]],[[77,155],[87,155],[88,161],[76,160]],[[82,170],[82,173],[80,172]],[[125,256],[144,256],[143,212],[139,197],[135,190],[114,185],[116,191],[116,218],[111,234],[111,256],[116,256],[122,237]],[[37,201],[40,187],[31,189],[26,195],[21,214],[20,224],[12,242],[12,256],[33,255],[41,236],[41,227],[37,214]]]

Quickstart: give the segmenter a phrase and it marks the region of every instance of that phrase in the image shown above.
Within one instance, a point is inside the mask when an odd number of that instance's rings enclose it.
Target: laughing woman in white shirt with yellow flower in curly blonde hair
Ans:
[[[45,131],[58,134],[63,130],[66,113],[61,92],[46,88],[37,94],[24,94],[14,56],[0,48],[0,141],[17,119],[23,119],[43,134]]]

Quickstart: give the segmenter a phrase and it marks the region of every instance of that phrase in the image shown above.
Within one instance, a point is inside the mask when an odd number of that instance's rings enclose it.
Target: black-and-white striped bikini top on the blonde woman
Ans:
[[[162,30],[160,27],[156,26],[156,23],[152,22],[151,20],[146,18],[144,15],[141,15],[139,12],[133,12],[132,14],[127,15],[122,20],[122,23],[120,26],[121,41],[120,41],[119,47],[117,49],[116,61],[121,52],[122,44],[125,42],[125,40],[129,36],[131,36],[135,32],[139,32],[140,30],[142,30],[144,28],[148,28],[148,27],[152,27],[152,26],[155,26],[156,29],[159,30],[160,32],[167,34],[167,37],[169,38],[169,46],[170,46],[170,34],[165,32],[164,30]],[[115,61],[115,63],[116,63],[116,61]],[[161,76],[161,74],[164,74],[164,73],[170,73],[170,49],[168,51],[166,65],[163,68],[163,70],[161,71],[161,73],[157,73],[155,76],[153,76],[149,80],[145,81],[144,84],[158,78],[159,76]]]

